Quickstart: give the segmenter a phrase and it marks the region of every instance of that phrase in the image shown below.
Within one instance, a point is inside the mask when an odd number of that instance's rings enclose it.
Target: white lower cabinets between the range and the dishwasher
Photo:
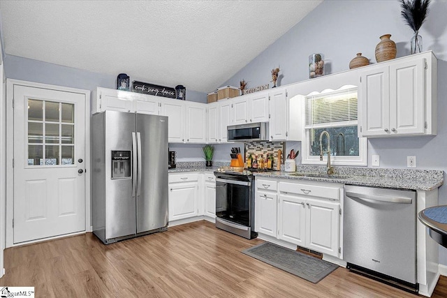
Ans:
[[[274,190],[265,191],[267,184]],[[342,184],[256,178],[256,190],[256,232],[342,257]]]

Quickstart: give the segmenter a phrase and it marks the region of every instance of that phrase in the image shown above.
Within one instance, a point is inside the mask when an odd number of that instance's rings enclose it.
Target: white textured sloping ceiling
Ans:
[[[6,54],[210,92],[318,1],[0,1]]]

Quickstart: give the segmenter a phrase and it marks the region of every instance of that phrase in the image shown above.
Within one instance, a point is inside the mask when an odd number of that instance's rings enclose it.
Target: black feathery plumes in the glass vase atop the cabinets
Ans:
[[[406,24],[416,33],[419,31],[425,17],[428,15],[430,0],[400,0],[402,12]]]

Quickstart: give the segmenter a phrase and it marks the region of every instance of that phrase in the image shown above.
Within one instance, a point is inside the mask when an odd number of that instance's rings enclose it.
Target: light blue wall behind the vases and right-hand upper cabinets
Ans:
[[[270,70],[281,68],[280,84],[308,80],[309,54],[325,54],[329,73],[349,69],[349,61],[362,52],[375,63],[374,50],[379,36],[390,33],[397,44],[397,57],[409,54],[411,29],[400,17],[400,2],[323,1],[304,20],[221,85],[239,86],[244,79],[249,88],[267,84]],[[438,135],[399,137],[368,141],[368,161],[379,154],[381,167],[406,167],[406,156],[416,156],[418,169],[447,170],[447,1],[432,1],[427,21],[420,30],[423,50],[432,50],[438,63]],[[272,86],[272,83],[270,83]],[[287,150],[286,150],[287,151]],[[447,182],[446,182],[447,184]],[[447,186],[439,188],[439,204],[447,204]],[[447,265],[447,250],[440,246],[440,262]]]

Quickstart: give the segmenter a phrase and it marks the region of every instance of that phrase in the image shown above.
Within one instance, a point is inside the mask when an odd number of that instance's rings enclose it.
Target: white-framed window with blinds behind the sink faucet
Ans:
[[[303,164],[327,163],[329,147],[333,165],[367,165],[367,138],[358,137],[357,103],[357,87],[352,85],[305,96]]]

